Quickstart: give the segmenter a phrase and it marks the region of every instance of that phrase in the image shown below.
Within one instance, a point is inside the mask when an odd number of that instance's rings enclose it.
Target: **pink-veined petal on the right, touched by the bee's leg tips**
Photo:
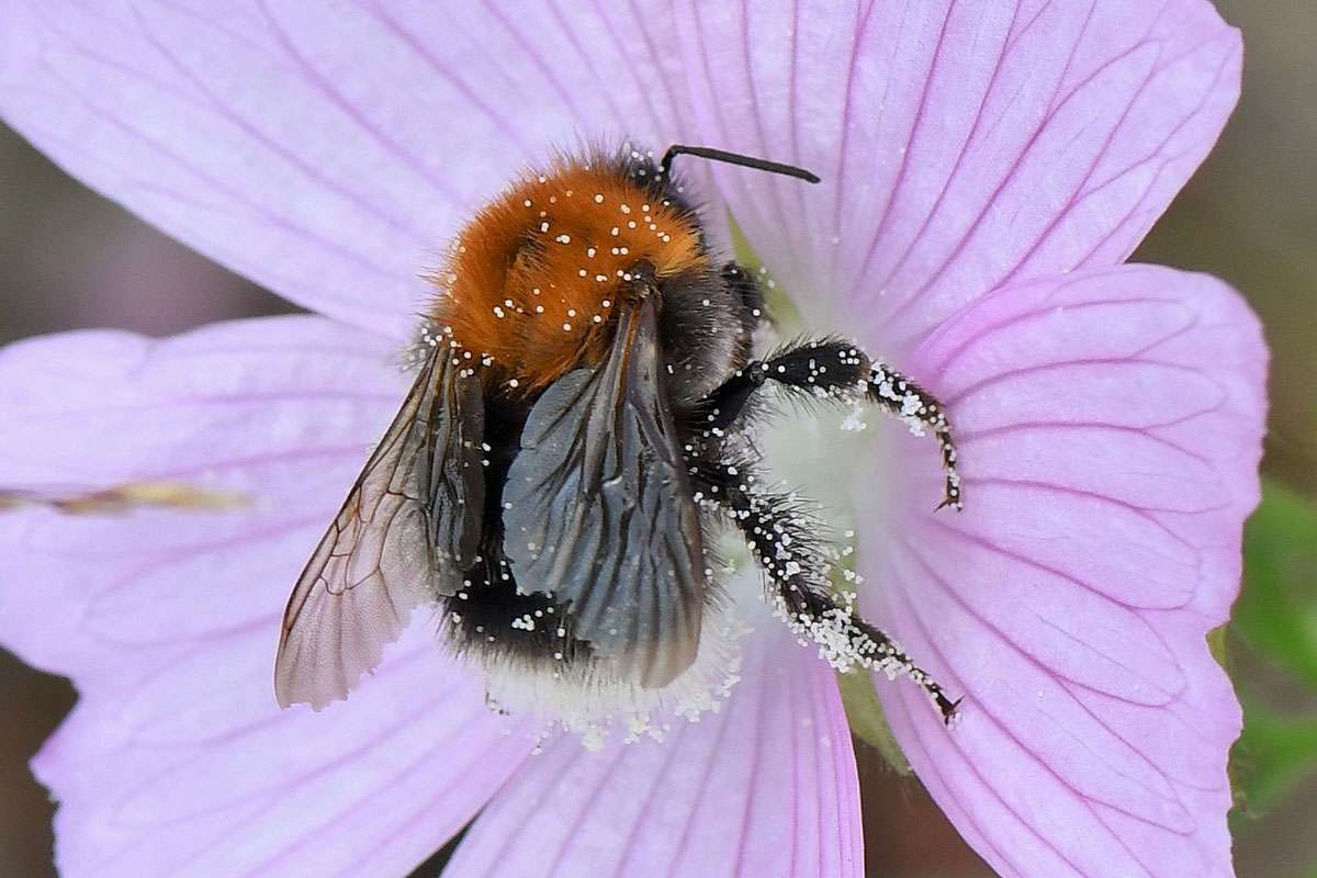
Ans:
[[[894,536],[864,557],[874,615],[968,696],[964,721],[881,696],[1001,874],[1233,874],[1239,707],[1205,638],[1238,594],[1264,371],[1237,294],[1152,266],[1004,288],[915,351],[965,511],[931,512],[935,455],[902,437]]]

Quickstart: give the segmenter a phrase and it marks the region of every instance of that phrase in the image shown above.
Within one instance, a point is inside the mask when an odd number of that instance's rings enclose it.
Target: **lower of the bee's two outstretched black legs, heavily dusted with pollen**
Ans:
[[[952,723],[960,702],[952,700],[898,642],[864,621],[855,612],[853,598],[843,599],[832,591],[830,565],[815,536],[822,525],[795,499],[756,487],[747,462],[695,458],[690,474],[697,498],[726,512],[745,537],[793,631],[818,644],[840,671],[859,665],[881,670],[889,679],[909,677],[928,694],[943,721]]]

